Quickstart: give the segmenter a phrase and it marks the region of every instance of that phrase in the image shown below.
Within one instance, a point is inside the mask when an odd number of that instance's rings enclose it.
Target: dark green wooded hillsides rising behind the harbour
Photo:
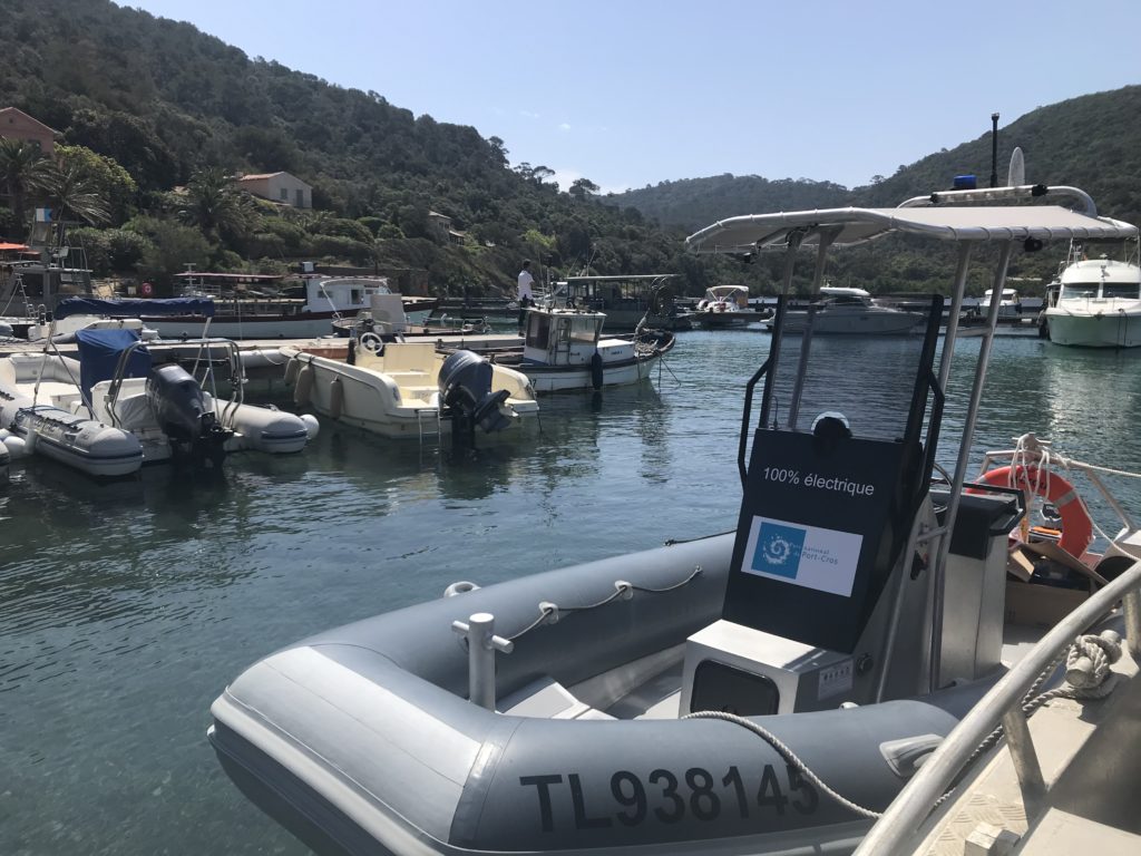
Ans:
[[[419,278],[435,293],[510,293],[529,257],[540,275],[673,272],[688,293],[723,282],[771,293],[777,259],[742,267],[689,256],[685,234],[759,210],[896,204],[956,173],[984,183],[989,173],[982,135],[852,191],[718,176],[599,196],[588,178],[560,188],[549,167],[512,167],[499,137],[250,59],[188,24],[108,0],[10,0],[0,48],[0,106],[60,131],[54,160],[0,143],[0,235],[22,240],[31,209],[47,204],[98,274],[147,276],[160,288],[187,263],[278,272],[306,259],[426,272]],[[1031,180],[1083,186],[1106,212],[1136,221],[1139,106],[1141,87],[1131,87],[1035,111],[1003,130],[1001,162],[1021,145]],[[277,170],[313,185],[313,210],[258,200],[230,180]],[[1047,256],[1020,257],[1012,274],[1045,275],[1058,261]],[[835,264],[834,282],[876,291],[929,290],[949,268],[905,241],[885,269],[860,251]],[[807,257],[802,267],[803,283]]]

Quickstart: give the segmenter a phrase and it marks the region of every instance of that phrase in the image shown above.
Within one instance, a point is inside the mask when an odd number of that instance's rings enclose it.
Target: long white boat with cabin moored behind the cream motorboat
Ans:
[[[254,284],[242,278],[257,278],[241,274],[186,274],[184,289],[188,296],[209,297],[215,302],[215,314],[207,329],[210,336],[227,339],[310,339],[333,332],[333,322],[345,316],[356,315],[367,309],[373,294],[391,293],[386,277],[319,277],[304,280],[304,296],[293,297],[288,290],[258,296]],[[203,292],[202,280],[232,276],[229,286],[215,286],[210,293]],[[267,277],[280,278],[280,277]],[[228,288],[220,292],[220,288]],[[241,289],[241,290],[238,290]],[[404,298],[408,306],[429,308],[431,300]],[[205,317],[199,313],[181,316],[143,315],[146,325],[159,332],[163,339],[199,336]],[[195,332],[192,332],[195,331]],[[205,333],[201,333],[205,334]]]

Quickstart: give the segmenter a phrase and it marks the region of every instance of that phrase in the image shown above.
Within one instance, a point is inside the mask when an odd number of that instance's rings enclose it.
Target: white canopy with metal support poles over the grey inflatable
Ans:
[[[1051,196],[1076,200],[1084,211],[1071,211],[1054,204],[1015,204]],[[892,233],[920,235],[957,244],[958,258],[950,291],[950,314],[939,361],[938,391],[942,395],[950,374],[958,316],[962,310],[963,293],[966,289],[971,253],[976,244],[994,243],[998,247],[993,289],[996,293],[1002,293],[1015,243],[1027,251],[1033,251],[1041,249],[1047,241],[1090,239],[1124,241],[1136,237],[1138,228],[1135,226],[1108,217],[1098,217],[1095,211],[1093,200],[1074,187],[1043,187],[1041,185],[994,187],[986,191],[947,192],[916,196],[907,200],[899,208],[833,208],[730,217],[694,233],[686,239],[686,247],[691,252],[697,253],[736,256],[747,256],[762,250],[785,250],[782,293],[787,294],[792,285],[796,250],[801,247],[816,249],[812,292],[817,293],[824,280],[824,263],[827,251],[833,245],[861,244]],[[944,576],[947,555],[950,550],[950,538],[945,535],[954,531],[955,519],[958,515],[960,498],[970,463],[969,458],[974,438],[979,402],[982,397],[982,386],[990,360],[990,345],[998,322],[998,308],[1000,301],[990,302],[985,334],[979,345],[974,382],[971,387],[971,399],[963,425],[947,512],[942,525],[923,536],[925,540],[934,540],[938,543],[934,551],[936,560],[932,565],[934,574],[930,664],[930,688],[932,691],[941,686],[940,645],[942,640]],[[775,361],[780,350],[779,336],[778,325],[766,364],[769,372],[776,370]],[[801,340],[802,365],[806,364],[807,352],[810,347],[811,334],[809,331]],[[764,366],[761,371],[764,371]],[[799,382],[798,380],[798,385]],[[794,397],[798,393],[794,393]]]

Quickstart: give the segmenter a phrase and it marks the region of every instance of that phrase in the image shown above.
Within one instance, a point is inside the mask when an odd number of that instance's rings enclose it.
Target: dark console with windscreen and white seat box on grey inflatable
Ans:
[[[933,297],[921,336],[874,352],[881,361],[892,354],[892,364],[855,366],[840,387],[815,383],[814,366],[834,364],[839,347],[847,358],[858,348],[775,333],[746,393],[744,498],[721,621],[687,641],[682,714],[799,712],[925,691],[932,575],[922,535],[939,525],[930,483],[942,409],[933,366],[941,314]],[[783,318],[782,301],[777,330]],[[746,468],[753,385],[762,377]],[[953,635],[957,653],[944,665],[973,678],[998,663],[1005,550],[995,544],[1020,510],[1010,496],[970,499],[947,579],[945,638]],[[992,621],[986,608],[995,605]],[[980,622],[997,630],[980,637]]]

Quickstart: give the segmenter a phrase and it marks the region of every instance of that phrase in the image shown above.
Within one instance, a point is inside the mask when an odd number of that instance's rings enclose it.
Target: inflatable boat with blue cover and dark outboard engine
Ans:
[[[232,341],[141,342],[130,330],[75,336],[79,360],[44,350],[0,361],[0,425],[29,451],[88,475],[123,476],[171,459],[217,466],[241,450],[291,453],[317,430],[313,417],[244,403]],[[177,362],[191,345],[201,372]],[[219,363],[228,365],[232,398],[217,393]]]

